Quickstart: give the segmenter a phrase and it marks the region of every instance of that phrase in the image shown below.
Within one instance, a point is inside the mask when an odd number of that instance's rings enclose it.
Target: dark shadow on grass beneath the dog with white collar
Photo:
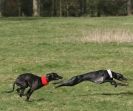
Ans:
[[[92,94],[84,94],[84,95],[79,95],[79,96],[90,96],[90,95],[103,95],[103,96],[118,96],[118,95],[124,95],[124,96],[129,96],[133,95],[133,92],[127,91],[127,92],[118,92],[118,93],[92,93]]]

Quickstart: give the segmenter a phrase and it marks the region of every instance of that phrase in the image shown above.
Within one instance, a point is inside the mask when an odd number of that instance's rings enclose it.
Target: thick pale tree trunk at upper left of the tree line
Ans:
[[[33,0],[33,16],[40,16],[40,0]]]

